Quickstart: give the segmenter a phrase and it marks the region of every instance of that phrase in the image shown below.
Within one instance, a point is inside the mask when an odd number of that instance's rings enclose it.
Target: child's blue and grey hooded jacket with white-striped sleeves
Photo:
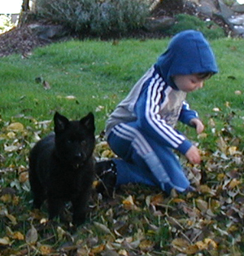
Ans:
[[[177,121],[190,125],[198,114],[190,109],[185,101],[186,92],[176,88],[172,76],[217,72],[215,56],[202,33],[186,30],[176,34],[167,51],[111,113],[106,135],[114,126],[134,121],[142,134],[185,154],[192,143],[174,126]]]

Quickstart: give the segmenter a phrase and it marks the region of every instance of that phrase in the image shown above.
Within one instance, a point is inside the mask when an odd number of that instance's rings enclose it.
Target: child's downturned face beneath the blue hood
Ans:
[[[173,82],[179,90],[190,92],[203,87],[206,78],[200,78],[198,74],[176,75],[172,77]]]

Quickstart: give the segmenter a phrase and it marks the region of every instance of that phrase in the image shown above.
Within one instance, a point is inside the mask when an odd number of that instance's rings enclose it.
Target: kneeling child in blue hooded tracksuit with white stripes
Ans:
[[[179,120],[198,134],[203,132],[198,113],[190,109],[185,97],[217,72],[215,56],[202,33],[176,34],[107,120],[107,142],[120,158],[97,163],[102,180],[98,191],[103,185],[111,194],[125,183],[159,186],[168,194],[172,188],[194,190],[172,149],[193,164],[199,164],[201,157],[198,148],[174,126]]]

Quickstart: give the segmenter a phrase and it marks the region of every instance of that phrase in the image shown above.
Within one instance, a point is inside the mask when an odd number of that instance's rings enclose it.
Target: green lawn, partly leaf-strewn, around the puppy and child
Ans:
[[[41,223],[41,219],[47,218],[45,208],[41,215],[30,211],[28,181],[21,180],[21,174],[26,174],[28,170],[28,152],[36,136],[42,137],[53,129],[52,122],[40,122],[51,121],[55,111],[71,119],[92,111],[96,135],[100,135],[109,113],[147,68],[155,63],[167,45],[168,39],[121,40],[119,43],[71,41],[38,48],[28,58],[11,55],[1,59],[2,255],[40,255],[41,245],[50,246],[52,253],[48,255],[57,255],[62,248],[68,255],[79,256],[99,256],[104,251],[108,251],[109,255],[110,249],[122,255],[126,252],[130,255],[176,255],[179,248],[176,249],[172,241],[178,237],[185,239],[189,234],[190,245],[197,246],[197,241],[209,238],[216,241],[220,254],[243,253],[243,241],[238,237],[242,234],[242,222],[233,221],[233,218],[238,220],[237,210],[242,211],[244,191],[242,164],[238,164],[243,162],[244,141],[242,39],[211,41],[220,73],[211,77],[202,90],[188,95],[190,106],[198,110],[206,126],[206,138],[198,138],[189,127],[178,127],[190,139],[200,143],[204,160],[201,168],[207,171],[206,185],[211,189],[210,193],[170,198],[155,188],[125,186],[111,200],[101,200],[94,194],[88,222],[78,232],[70,231],[70,227],[62,222],[52,225],[45,221]],[[50,90],[37,83],[37,77],[48,82]],[[237,94],[237,90],[242,93]],[[67,99],[69,95],[75,99]],[[13,122],[22,123],[24,130],[12,134],[7,127]],[[226,148],[220,145],[220,138],[224,138]],[[7,146],[18,149],[7,151]],[[228,152],[231,146],[237,147],[237,153],[231,155]],[[185,162],[184,165],[189,169],[195,167]],[[240,182],[237,189],[228,188],[233,177]],[[6,189],[13,190],[10,197],[4,196]],[[239,200],[235,201],[233,195],[237,195]],[[134,201],[131,209],[125,207],[127,196],[132,196]],[[234,204],[233,209],[227,199]],[[208,215],[209,212],[199,214],[199,200],[206,201],[216,216]],[[31,225],[38,232],[33,245],[26,238]],[[16,238],[15,232],[23,234],[24,241]],[[4,237],[8,237],[9,244],[2,245]],[[200,251],[203,255],[217,255],[210,245]],[[186,253],[182,249],[180,252]]]

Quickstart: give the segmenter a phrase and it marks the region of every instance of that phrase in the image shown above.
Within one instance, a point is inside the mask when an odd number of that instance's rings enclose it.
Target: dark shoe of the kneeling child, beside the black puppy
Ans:
[[[95,172],[99,178],[97,192],[112,197],[117,179],[115,162],[112,160],[98,161],[95,165]]]

